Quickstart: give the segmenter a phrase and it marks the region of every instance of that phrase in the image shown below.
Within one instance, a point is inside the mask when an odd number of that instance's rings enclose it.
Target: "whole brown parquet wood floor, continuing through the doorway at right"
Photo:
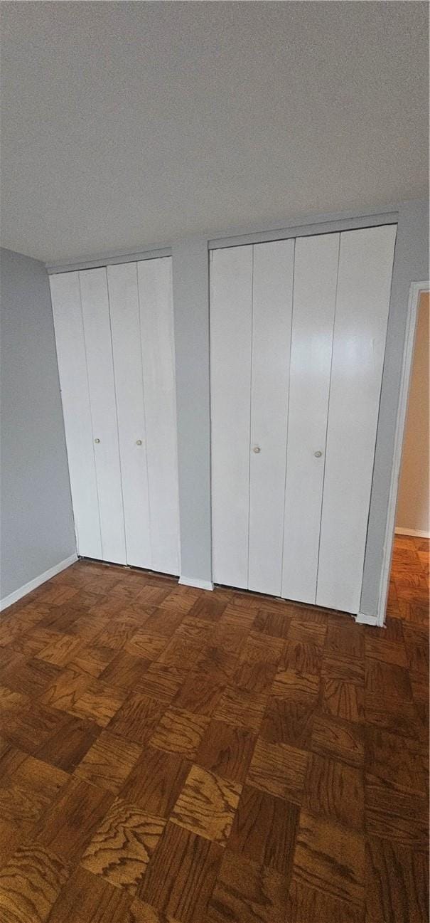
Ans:
[[[6,610],[2,923],[425,923],[428,545],[384,630],[89,561]]]

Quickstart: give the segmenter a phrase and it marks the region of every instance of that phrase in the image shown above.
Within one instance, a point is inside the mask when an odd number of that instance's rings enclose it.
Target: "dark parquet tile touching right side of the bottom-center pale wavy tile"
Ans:
[[[234,853],[279,871],[288,881],[293,865],[299,809],[282,798],[245,785],[228,847]]]

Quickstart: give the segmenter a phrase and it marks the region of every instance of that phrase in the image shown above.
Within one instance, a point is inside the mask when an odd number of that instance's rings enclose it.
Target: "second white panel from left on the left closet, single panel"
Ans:
[[[111,325],[106,270],[79,273],[90,383],[102,552],[107,561],[126,563],[124,509],[118,448]]]

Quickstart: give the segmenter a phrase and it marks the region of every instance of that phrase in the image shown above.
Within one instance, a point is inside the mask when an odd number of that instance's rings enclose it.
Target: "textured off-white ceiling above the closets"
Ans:
[[[426,194],[425,3],[1,3],[3,246],[48,262]]]

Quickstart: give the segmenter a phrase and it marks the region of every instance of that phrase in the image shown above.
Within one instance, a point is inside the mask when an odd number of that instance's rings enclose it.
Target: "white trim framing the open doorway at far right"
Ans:
[[[373,624],[382,627],[385,622],[385,610],[388,597],[389,572],[391,569],[391,556],[393,550],[394,527],[396,522],[397,495],[399,490],[401,451],[403,448],[404,427],[408,409],[409,386],[411,381],[413,346],[415,343],[416,320],[418,305],[423,292],[430,291],[430,282],[411,282],[409,290],[408,317],[406,321],[406,335],[403,346],[403,360],[400,378],[400,397],[397,410],[396,434],[394,437],[393,463],[391,469],[391,482],[389,485],[388,516],[384,542],[384,557],[379,582],[379,596],[377,612]],[[401,530],[404,532],[404,530]],[[357,621],[364,617],[357,616]]]

